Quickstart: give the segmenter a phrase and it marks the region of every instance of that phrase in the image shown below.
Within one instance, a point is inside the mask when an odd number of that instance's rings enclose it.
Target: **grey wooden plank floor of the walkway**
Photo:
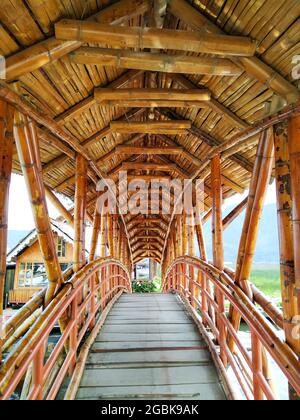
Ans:
[[[123,295],[88,357],[78,400],[223,400],[206,344],[174,295]]]

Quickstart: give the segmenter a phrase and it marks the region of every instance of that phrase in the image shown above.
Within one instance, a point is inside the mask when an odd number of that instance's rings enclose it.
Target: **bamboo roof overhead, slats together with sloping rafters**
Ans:
[[[110,7],[112,4],[115,5],[114,8]],[[196,0],[185,3],[184,0],[170,0],[168,5],[167,2],[162,4],[167,7],[157,15],[156,2],[147,0],[120,2],[2,0],[1,2],[0,54],[7,58],[8,83],[14,86],[14,82],[17,81],[18,92],[77,139],[96,162],[101,173],[108,174],[112,178],[116,178],[118,170],[123,167],[123,162],[133,168],[130,174],[156,174],[172,178],[184,175],[193,177],[212,147],[234,138],[266,116],[299,100],[297,81],[292,77],[295,66],[293,57],[300,51],[299,1]],[[122,10],[127,12],[125,17],[119,16]],[[245,42],[241,41],[241,48],[244,45],[243,51],[248,51],[242,55],[246,54],[247,57],[244,55],[239,57],[238,54],[236,56],[221,54],[220,51],[215,51],[213,54],[184,51],[181,48],[179,51],[175,49],[179,48],[179,44],[176,46],[176,39],[172,50],[159,50],[157,39],[151,44],[154,45],[152,49],[148,47],[142,49],[133,47],[135,45],[133,40],[132,45],[124,47],[126,53],[163,53],[168,55],[169,62],[172,57],[177,56],[178,62],[181,60],[183,64],[185,58],[186,63],[197,57],[202,58],[203,62],[208,58],[215,59],[213,63],[216,66],[218,63],[224,68],[230,65],[231,71],[238,69],[238,74],[231,76],[203,74],[205,71],[193,74],[193,71],[196,71],[193,70],[193,64],[190,65],[189,73],[156,71],[156,67],[153,67],[155,71],[150,71],[148,62],[147,66],[145,64],[145,69],[134,67],[131,69],[130,65],[122,68],[121,59],[121,64],[118,66],[112,64],[117,63],[116,60],[111,61],[110,65],[91,64],[91,61],[96,59],[80,58],[78,48],[84,48],[82,54],[90,54],[92,47],[99,53],[101,48],[102,62],[106,63],[103,54],[111,51],[111,45],[107,44],[109,41],[95,43],[71,41],[67,38],[62,40],[58,39],[62,36],[58,29],[61,29],[59,25],[63,19],[69,19],[71,23],[76,21],[78,24],[78,21],[85,22],[95,14],[100,16],[98,22],[114,23],[114,27],[123,29],[156,26],[176,31],[198,31],[204,40],[206,37],[209,38],[209,34],[241,36],[245,39]],[[205,24],[201,19],[204,19]],[[201,26],[199,22],[202,22]],[[55,24],[58,24],[56,28]],[[63,30],[65,26],[62,25]],[[105,29],[103,28],[102,33]],[[81,36],[83,33],[85,34],[82,31]],[[64,54],[60,51],[62,42],[64,46],[68,43]],[[237,42],[239,45],[239,41]],[[166,41],[166,45],[169,44]],[[255,46],[255,57],[249,57],[250,50],[253,49],[251,45]],[[87,47],[89,50],[86,50]],[[217,47],[218,43],[215,50]],[[201,48],[203,50],[203,47]],[[187,43],[186,50],[191,49]],[[34,63],[32,58],[37,58]],[[87,60],[85,64],[79,64],[82,59]],[[145,55],[145,63],[147,59]],[[174,65],[177,67],[174,68],[177,69],[179,65],[176,61],[177,59],[174,60]],[[186,66],[182,67],[184,68]],[[206,71],[209,72],[213,73],[213,70],[210,68]],[[116,106],[117,101],[108,100],[101,103],[96,100],[94,93],[98,88],[198,89],[199,92],[205,89],[211,94],[211,99],[199,105],[185,104],[183,107],[167,107],[166,104],[128,107],[128,103],[124,102],[126,106],[123,106],[121,100]],[[158,105],[160,103],[163,102],[159,102]],[[191,128],[178,135],[152,132],[138,134],[135,131],[120,133],[110,128],[112,121],[132,123],[149,120],[154,122],[186,120],[191,123]],[[245,143],[242,150],[223,161],[224,197],[242,192],[249,186],[258,139],[259,135],[254,136],[251,141]],[[56,140],[55,136],[44,128],[40,131],[44,181],[53,191],[73,199],[75,153],[70,145]],[[124,153],[124,150],[122,153],[117,153],[116,148],[120,145],[135,147],[135,153],[131,154],[130,149],[128,153]],[[181,153],[174,151],[170,155],[138,153],[138,148],[142,150],[151,147],[159,150],[164,147],[179,147]],[[66,151],[62,153],[64,148]],[[142,169],[134,169],[142,168],[142,165],[137,165],[142,163],[156,164],[161,170],[152,168],[146,169],[145,172]],[[171,165],[170,171],[166,172],[163,165]],[[21,172],[17,153],[14,157],[14,171]],[[96,197],[95,179],[91,177],[89,182],[88,211],[93,214]],[[211,207],[210,187],[208,177],[205,194],[206,210]],[[168,216],[161,217],[163,230],[160,236],[164,239],[166,233],[164,226],[169,220]],[[125,220],[130,222],[131,218],[128,215]],[[133,230],[132,236],[134,233]]]

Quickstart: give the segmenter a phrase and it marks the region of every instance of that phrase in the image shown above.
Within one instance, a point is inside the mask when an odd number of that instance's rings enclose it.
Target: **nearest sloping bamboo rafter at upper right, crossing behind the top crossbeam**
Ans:
[[[224,34],[218,26],[185,0],[170,0],[168,10],[196,31],[204,31],[210,34]],[[299,90],[258,57],[241,57],[237,60],[238,64],[242,66],[249,76],[252,76],[274,92],[285,97],[288,102],[291,103],[299,100]]]

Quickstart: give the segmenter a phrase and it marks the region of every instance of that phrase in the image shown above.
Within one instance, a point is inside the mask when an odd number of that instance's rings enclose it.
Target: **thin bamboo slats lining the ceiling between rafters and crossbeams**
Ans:
[[[138,0],[132,0],[138,1]],[[29,47],[55,37],[55,23],[62,19],[85,20],[105,9],[109,0],[2,0],[0,7],[0,54],[14,57]],[[287,81],[297,86],[292,78],[293,56],[300,52],[300,2],[299,0],[196,0],[190,4],[195,13],[200,12],[227,35],[250,37],[257,42],[256,56],[268,64]],[[122,22],[123,26],[147,27],[153,19],[152,2],[149,10]],[[184,16],[179,19],[168,8],[163,28],[193,30]],[[101,46],[86,44],[85,46]],[[137,51],[137,50],[135,50]],[[149,51],[149,50],[148,50]],[[164,51],[177,54],[176,51]],[[179,52],[178,52],[179,53]],[[184,53],[187,56],[203,56],[197,53]],[[206,55],[204,55],[206,56]],[[124,76],[124,77],[123,77]],[[94,100],[97,87],[118,87],[124,85],[127,76],[130,81],[126,88],[208,88],[218,107],[172,108],[136,110],[132,108],[103,106]],[[121,79],[120,79],[121,78]],[[167,156],[144,156],[115,154],[116,146],[154,146],[163,148],[170,144],[184,148],[186,152],[201,162],[211,145],[204,142],[197,132],[185,135],[144,135],[135,133],[118,134],[108,128],[111,121],[118,119],[130,121],[169,120],[174,118],[190,120],[194,127],[210,134],[218,142],[224,142],[239,131],[264,118],[276,99],[276,93],[266,84],[259,82],[246,71],[239,76],[223,77],[203,74],[181,74],[174,77],[169,73],[152,73],[140,70],[123,70],[113,66],[76,64],[70,55],[42,65],[40,68],[20,75],[19,92],[39,110],[55,119],[76,137],[89,151],[104,174],[115,176],[123,161],[162,163],[167,160],[176,164],[188,176],[197,171],[197,162],[186,154]],[[12,82],[11,80],[9,82]],[[120,86],[120,88],[122,87]],[[85,106],[83,106],[85,104]],[[268,106],[269,104],[269,106]],[[271,104],[271,105],[270,105]],[[222,112],[221,106],[230,111]],[[224,109],[224,108],[223,108]],[[175,114],[174,114],[175,113]],[[236,119],[235,119],[236,118]],[[45,134],[46,136],[46,134]],[[130,141],[134,138],[132,141]],[[87,141],[88,140],[88,141]],[[224,195],[230,196],[245,190],[250,181],[251,165],[254,162],[258,138],[248,145],[240,156],[246,165],[234,159],[223,163]],[[168,144],[169,143],[169,144]],[[63,158],[61,151],[42,137],[40,140],[42,163],[45,165],[44,180],[54,191],[73,198],[74,196],[74,159]],[[61,157],[61,159],[60,159]],[[56,164],[57,162],[57,164]],[[17,155],[14,171],[20,172]],[[141,172],[137,172],[140,174]],[[148,172],[149,173],[149,172]],[[161,172],[158,172],[162,174]],[[176,169],[165,175],[178,176]],[[206,181],[206,208],[209,209],[210,180]],[[88,201],[92,214],[95,200],[95,185],[90,180]],[[128,218],[130,220],[130,217]]]

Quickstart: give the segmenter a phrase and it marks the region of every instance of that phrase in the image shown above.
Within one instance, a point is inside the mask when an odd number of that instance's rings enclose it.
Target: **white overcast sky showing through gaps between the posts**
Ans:
[[[246,196],[247,192],[244,196],[238,194],[230,198],[227,200],[225,207],[238,204]],[[275,203],[275,199],[275,183],[273,183],[273,185],[269,188],[266,203]],[[56,218],[58,216],[57,211],[51,204],[48,204],[48,206],[50,216],[52,218]],[[12,176],[8,228],[9,230],[30,230],[34,228],[25,182],[23,177],[19,175]]]

